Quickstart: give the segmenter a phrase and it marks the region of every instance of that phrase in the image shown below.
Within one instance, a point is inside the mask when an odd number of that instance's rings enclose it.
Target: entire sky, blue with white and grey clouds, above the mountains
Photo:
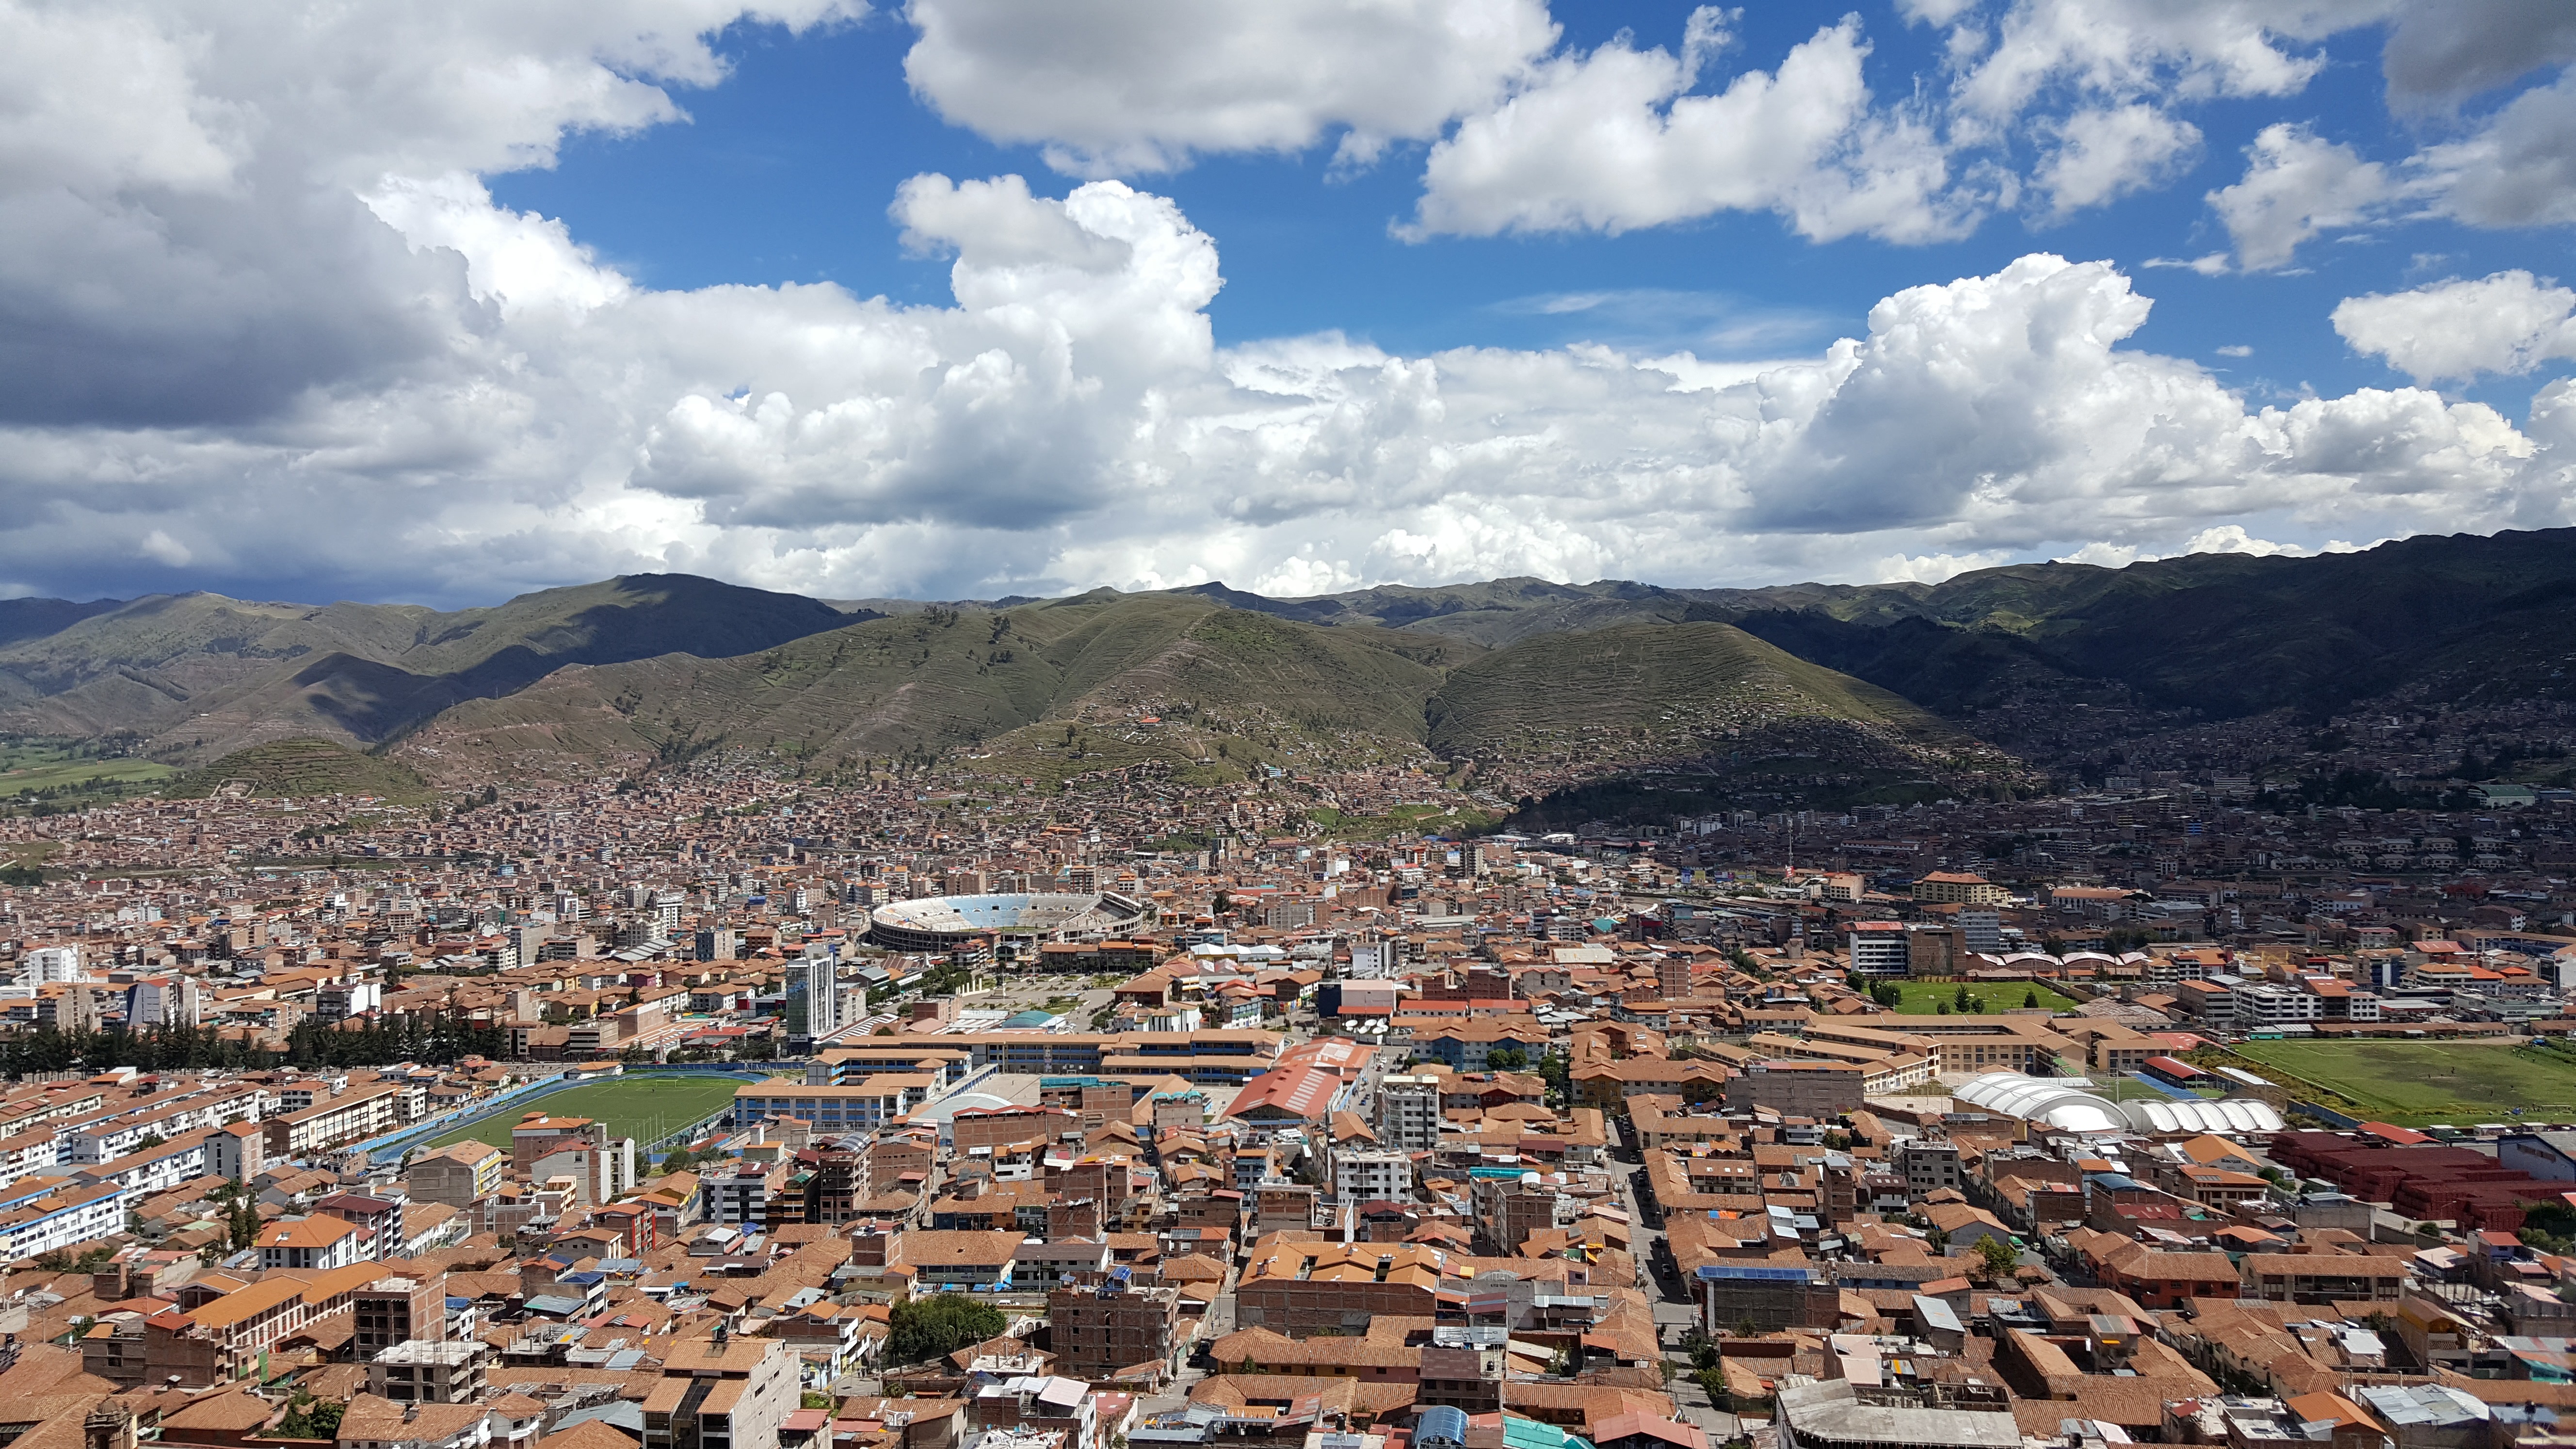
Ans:
[[[98,0],[0,57],[0,596],[2576,521],[2576,5]]]

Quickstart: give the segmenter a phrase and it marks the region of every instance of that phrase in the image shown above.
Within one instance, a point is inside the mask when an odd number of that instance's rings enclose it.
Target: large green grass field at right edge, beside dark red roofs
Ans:
[[[2576,1122],[2576,1057],[2561,1052],[2494,1042],[2246,1042],[2236,1049],[2342,1093],[2360,1116],[2398,1127],[2512,1122],[2517,1106],[2532,1122]]]

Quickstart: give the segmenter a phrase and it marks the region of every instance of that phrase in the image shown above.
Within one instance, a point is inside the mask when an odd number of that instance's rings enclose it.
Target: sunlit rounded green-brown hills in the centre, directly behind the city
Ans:
[[[1847,792],[1922,781],[1937,794],[1932,776],[1994,766],[1904,699],[1726,624],[1484,650],[1224,608],[1200,590],[943,606],[737,660],[572,668],[469,701],[415,745],[528,763],[744,748],[832,771],[961,750],[981,773],[1036,784],[1141,766],[1224,781],[1417,761],[1425,745],[1512,779],[1749,755],[1762,763],[1736,773],[1832,773]]]

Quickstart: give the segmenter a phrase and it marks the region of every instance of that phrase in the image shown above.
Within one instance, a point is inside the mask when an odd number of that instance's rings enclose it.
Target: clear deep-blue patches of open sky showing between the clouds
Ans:
[[[1566,44],[1592,49],[1623,28],[1641,46],[1677,46],[1692,5],[1551,5]],[[1870,83],[1901,93],[1940,70],[1940,34],[1886,5],[1868,23]],[[1741,41],[1698,90],[1775,67],[1837,8],[1747,8]],[[675,90],[688,124],[634,134],[577,134],[554,168],[492,178],[505,206],[562,217],[572,232],[639,281],[837,281],[860,294],[945,302],[948,258],[907,255],[886,206],[922,170],[953,178],[1020,173],[1064,193],[1033,144],[994,144],[945,124],[904,83],[914,31],[884,10],[801,36],[742,23],[716,39],[724,83]],[[1886,294],[1922,281],[1989,273],[2030,250],[2112,260],[2156,302],[2138,348],[2200,358],[2257,397],[2349,392],[2406,382],[2380,358],[2354,356],[2329,315],[2360,291],[2401,291],[2442,276],[2501,268],[2571,271],[2558,229],[2473,229],[2439,217],[2352,232],[2300,255],[2295,276],[2195,276],[2154,258],[2226,250],[2202,193],[2244,173],[2244,147],[2280,119],[2313,121],[2372,157],[2403,157],[2447,124],[2391,119],[2378,26],[2300,46],[2326,67],[2287,103],[2205,101],[2184,113],[2205,147],[2169,183],[2066,222],[2002,214],[1958,242],[1891,245],[1875,237],[1808,242],[1772,214],[1716,214],[1674,227],[1553,237],[1391,235],[1419,196],[1422,144],[1365,170],[1337,170],[1329,144],[1301,155],[1218,155],[1177,173],[1131,175],[1172,196],[1216,237],[1226,289],[1208,309],[1218,343],[1345,330],[1383,348],[1548,348],[1607,340],[1623,348],[1695,348],[1767,358],[1857,335]],[[2488,101],[2491,106],[2491,101]],[[1571,299],[1600,297],[1589,307]],[[2251,345],[2244,358],[2218,348]],[[2563,364],[2550,374],[2563,371]],[[2548,374],[2545,374],[2548,376]],[[2522,410],[2540,379],[2486,379],[2455,389]]]

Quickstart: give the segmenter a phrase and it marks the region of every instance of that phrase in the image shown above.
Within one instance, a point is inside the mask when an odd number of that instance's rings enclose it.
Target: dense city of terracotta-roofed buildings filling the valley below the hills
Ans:
[[[1427,766],[21,810],[0,1413],[2452,1446],[2568,1392],[2568,789],[1530,835]]]

